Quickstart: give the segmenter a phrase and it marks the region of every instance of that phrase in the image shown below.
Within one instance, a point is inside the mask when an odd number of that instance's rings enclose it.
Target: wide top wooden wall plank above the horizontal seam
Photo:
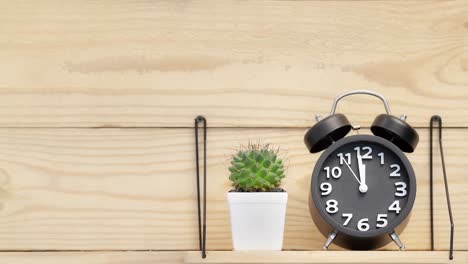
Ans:
[[[413,125],[438,113],[467,127],[466,13],[466,1],[8,1],[0,126],[189,127],[204,114],[308,127],[366,88]],[[339,111],[368,126],[383,107]]]

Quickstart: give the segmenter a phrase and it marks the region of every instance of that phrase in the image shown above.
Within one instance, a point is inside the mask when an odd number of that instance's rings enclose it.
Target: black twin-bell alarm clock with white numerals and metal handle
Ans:
[[[373,135],[346,135],[352,126],[335,113],[338,102],[366,94],[383,102],[386,113],[371,125]],[[323,151],[312,172],[309,209],[318,230],[331,243],[348,249],[375,249],[392,240],[404,248],[405,228],[416,197],[416,177],[404,152],[413,152],[419,136],[406,115],[392,116],[386,99],[375,92],[355,90],[335,98],[330,115],[304,136],[311,153]]]

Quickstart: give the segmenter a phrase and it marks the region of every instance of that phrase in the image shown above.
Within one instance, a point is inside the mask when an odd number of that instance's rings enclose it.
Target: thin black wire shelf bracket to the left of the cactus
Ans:
[[[200,123],[203,123],[203,224],[200,205],[200,155],[198,147],[198,130]],[[206,258],[206,118],[203,116],[197,116],[195,118],[195,163],[197,166],[198,242],[200,251],[202,252],[202,258]]]

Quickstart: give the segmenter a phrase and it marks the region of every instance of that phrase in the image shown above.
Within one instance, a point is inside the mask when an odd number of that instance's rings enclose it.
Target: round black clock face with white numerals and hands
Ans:
[[[315,206],[334,229],[371,237],[392,232],[408,216],[416,182],[411,164],[395,145],[357,135],[322,154],[311,191]]]

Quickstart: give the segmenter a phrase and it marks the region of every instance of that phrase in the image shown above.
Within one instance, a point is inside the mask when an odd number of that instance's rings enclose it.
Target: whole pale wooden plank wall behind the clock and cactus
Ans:
[[[307,205],[318,155],[302,137],[351,89],[383,93],[418,127],[420,145],[408,155],[418,195],[402,236],[409,251],[430,249],[428,124],[444,118],[455,249],[468,250],[467,1],[0,7],[2,263],[182,263],[198,247],[197,114],[209,125],[208,249],[231,249],[229,155],[262,140],[290,160],[285,249],[319,250]],[[361,96],[338,110],[368,127],[384,109]],[[436,177],[435,247],[447,250]]]

